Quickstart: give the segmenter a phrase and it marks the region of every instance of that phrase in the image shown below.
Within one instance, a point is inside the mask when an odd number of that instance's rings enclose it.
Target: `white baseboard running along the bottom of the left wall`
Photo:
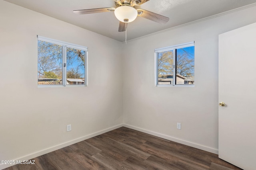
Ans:
[[[86,136],[83,136],[83,137],[76,138],[76,139],[71,140],[71,141],[60,143],[58,145],[55,145],[55,146],[52,146],[52,147],[48,147],[46,149],[38,150],[36,152],[33,152],[33,153],[30,153],[30,154],[21,156],[19,158],[14,158],[14,159],[11,159],[11,160],[14,160],[15,164],[16,164],[17,160],[18,161],[19,160],[21,160],[21,161],[23,161],[23,160],[30,160],[32,158],[36,158],[36,157],[41,156],[43,154],[47,154],[49,152],[53,152],[54,150],[58,150],[58,149],[67,147],[69,145],[73,145],[75,143],[84,141],[86,139],[89,139],[89,138],[101,135],[102,133],[106,133],[106,132],[112,131],[112,130],[117,129],[117,128],[122,127],[122,126],[123,126],[123,124],[116,125],[116,126],[113,126],[113,127],[107,128],[107,129],[103,129],[102,131],[98,131],[98,132],[95,132],[95,133],[92,133],[92,134],[89,134],[89,135],[86,135]],[[0,170],[2,170],[4,168],[8,168],[8,167],[13,166],[13,165],[14,164],[0,164]]]

